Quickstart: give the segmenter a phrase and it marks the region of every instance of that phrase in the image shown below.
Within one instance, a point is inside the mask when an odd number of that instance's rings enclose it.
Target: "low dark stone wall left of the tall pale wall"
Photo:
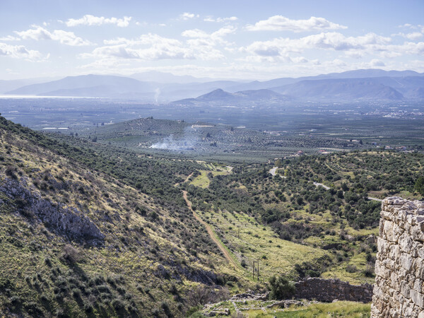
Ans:
[[[295,283],[295,298],[332,302],[333,300],[351,300],[370,302],[372,285],[351,285],[338,279],[305,278]]]

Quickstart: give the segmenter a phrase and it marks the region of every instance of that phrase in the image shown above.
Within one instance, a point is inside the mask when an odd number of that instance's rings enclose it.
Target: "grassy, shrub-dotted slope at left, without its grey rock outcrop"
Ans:
[[[155,198],[28,141],[25,129],[1,124],[0,182],[12,173],[43,199],[84,211],[105,243],[90,247],[57,235],[0,193],[0,311],[145,316],[168,307],[182,315],[186,305],[177,295],[195,284],[182,271],[201,275],[199,270],[224,262],[206,231]],[[72,185],[55,189],[60,182]],[[194,256],[186,235],[210,247]],[[76,261],[65,259],[67,244],[75,248]]]

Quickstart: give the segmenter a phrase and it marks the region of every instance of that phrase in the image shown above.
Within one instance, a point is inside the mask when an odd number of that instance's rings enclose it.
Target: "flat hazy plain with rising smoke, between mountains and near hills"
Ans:
[[[0,99],[0,108],[6,118],[33,129],[78,134],[174,158],[266,162],[299,151],[382,146],[420,150],[424,146],[424,118],[412,115],[422,112],[422,106],[414,102],[170,107],[105,99],[29,98]],[[384,117],[387,114],[393,116]]]

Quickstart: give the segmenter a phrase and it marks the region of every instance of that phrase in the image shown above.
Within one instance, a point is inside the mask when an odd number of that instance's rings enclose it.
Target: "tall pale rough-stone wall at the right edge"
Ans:
[[[424,201],[382,202],[371,317],[424,318]]]

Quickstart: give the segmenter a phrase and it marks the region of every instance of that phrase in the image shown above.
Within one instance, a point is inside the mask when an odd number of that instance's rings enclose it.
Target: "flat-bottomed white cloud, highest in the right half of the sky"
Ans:
[[[337,30],[346,29],[344,25],[330,22],[324,18],[314,16],[307,20],[291,20],[285,16],[271,16],[266,20],[260,20],[254,25],[247,25],[249,31],[317,31],[317,30]]]

